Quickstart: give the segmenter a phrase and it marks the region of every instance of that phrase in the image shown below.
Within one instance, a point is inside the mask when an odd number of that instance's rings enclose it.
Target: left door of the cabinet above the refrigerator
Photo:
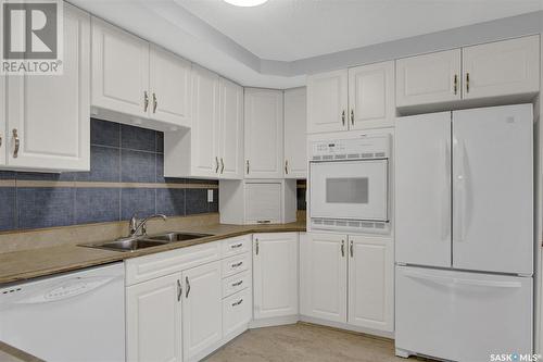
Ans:
[[[460,99],[460,49],[396,60],[396,105]]]

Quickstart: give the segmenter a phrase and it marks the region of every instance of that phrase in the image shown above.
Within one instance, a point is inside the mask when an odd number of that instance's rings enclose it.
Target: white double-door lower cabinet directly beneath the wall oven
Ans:
[[[301,314],[392,332],[392,238],[307,233],[302,239]]]

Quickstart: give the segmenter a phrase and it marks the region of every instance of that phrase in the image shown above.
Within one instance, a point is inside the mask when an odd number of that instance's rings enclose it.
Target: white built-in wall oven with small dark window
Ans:
[[[390,233],[390,135],[310,145],[310,228]]]

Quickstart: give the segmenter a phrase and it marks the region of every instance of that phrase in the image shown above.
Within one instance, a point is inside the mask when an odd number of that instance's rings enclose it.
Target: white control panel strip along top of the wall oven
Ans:
[[[389,157],[389,135],[315,141],[312,143],[311,148],[311,159],[313,161],[332,159],[388,159]]]

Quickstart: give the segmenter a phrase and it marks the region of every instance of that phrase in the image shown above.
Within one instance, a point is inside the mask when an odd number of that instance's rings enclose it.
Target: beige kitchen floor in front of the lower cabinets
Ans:
[[[205,361],[415,362],[420,360],[394,357],[392,340],[299,323],[248,330]]]

